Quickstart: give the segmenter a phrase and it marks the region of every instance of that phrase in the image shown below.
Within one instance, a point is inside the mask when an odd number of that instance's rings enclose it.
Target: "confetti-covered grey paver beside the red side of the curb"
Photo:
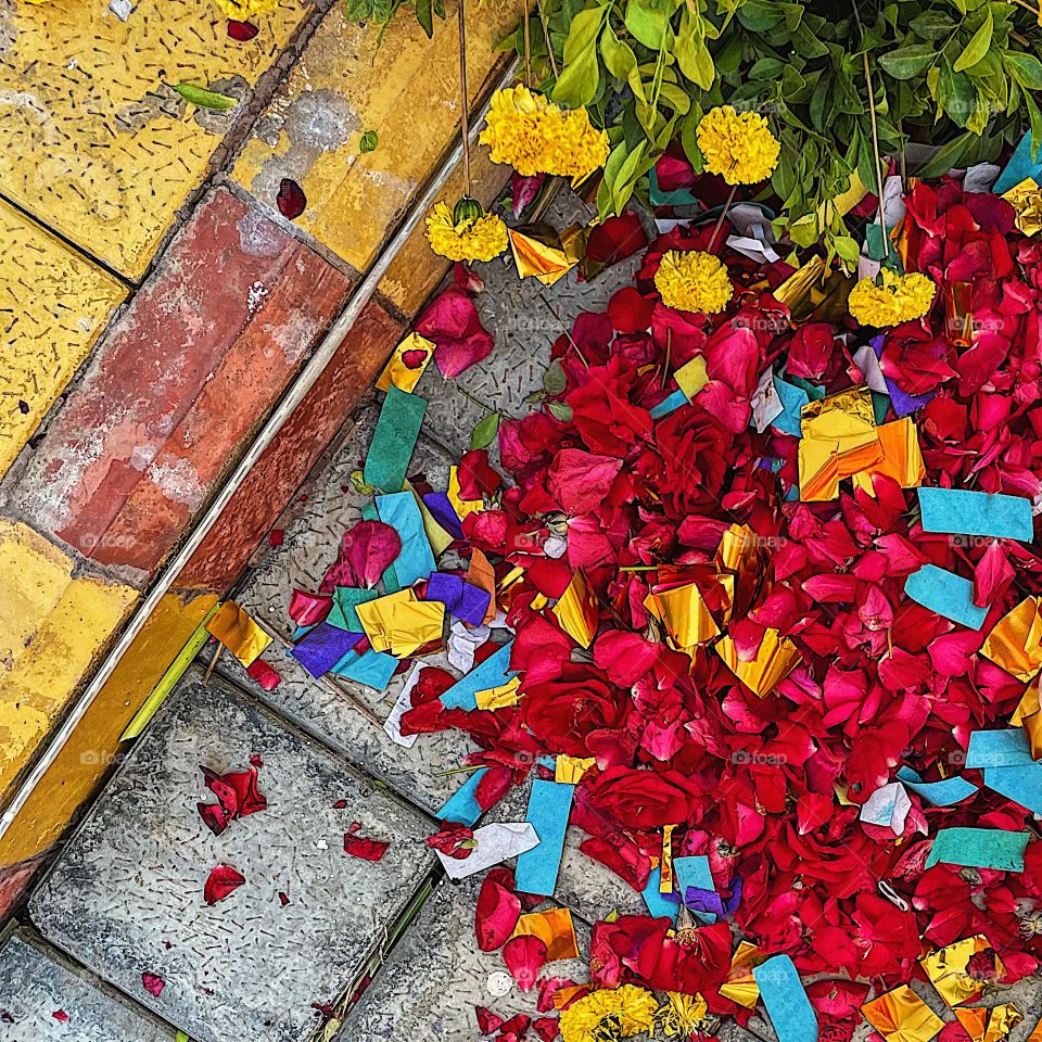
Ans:
[[[247,611],[285,639],[292,636],[289,607],[293,590],[318,589],[336,559],[341,536],[360,520],[361,508],[369,501],[352,485],[351,473],[360,469],[365,460],[378,412],[372,402],[356,412],[340,447],[305,485],[306,501],[298,505],[282,545],[266,552],[236,594],[236,599]],[[448,458],[421,436],[410,474],[423,473],[433,487],[445,488],[448,467]],[[236,683],[319,736],[351,763],[417,806],[436,811],[459,787],[458,775],[439,777],[439,773],[458,766],[474,748],[465,735],[458,732],[421,735],[412,748],[407,749],[393,742],[382,727],[374,726],[353,709],[348,699],[309,676],[284,650],[272,646],[265,659],[282,676],[282,683],[270,692],[254,684],[229,656],[221,657],[220,672],[232,676]],[[444,658],[430,661],[447,666]],[[352,681],[339,679],[338,683],[378,719],[385,720],[404,677],[393,677],[385,691],[374,691]]]

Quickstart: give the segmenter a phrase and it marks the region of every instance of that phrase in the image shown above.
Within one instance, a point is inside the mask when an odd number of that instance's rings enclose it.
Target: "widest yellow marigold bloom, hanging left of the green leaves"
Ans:
[[[480,141],[493,163],[508,163],[522,177],[585,177],[608,158],[608,135],[585,109],[561,109],[520,84],[493,96]]]

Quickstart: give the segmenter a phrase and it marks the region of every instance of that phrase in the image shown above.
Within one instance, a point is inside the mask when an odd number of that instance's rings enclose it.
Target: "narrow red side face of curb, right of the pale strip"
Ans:
[[[404,331],[369,303],[185,567],[178,586],[219,592],[231,586]]]

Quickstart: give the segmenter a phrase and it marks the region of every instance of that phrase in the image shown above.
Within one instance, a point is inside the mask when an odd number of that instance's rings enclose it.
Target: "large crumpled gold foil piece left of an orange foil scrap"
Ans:
[[[804,503],[835,499],[843,478],[882,459],[872,393],[865,386],[808,403],[800,428],[800,499]]]

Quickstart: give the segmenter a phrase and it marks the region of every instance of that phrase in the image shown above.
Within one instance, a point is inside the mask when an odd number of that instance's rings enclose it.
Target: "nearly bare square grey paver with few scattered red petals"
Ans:
[[[259,755],[265,811],[215,837],[200,764]],[[346,801],[336,809],[334,803]],[[344,852],[352,823],[391,840]],[[192,671],[162,707],[30,902],[40,931],[198,1042],[304,1042],[428,876],[428,823],[326,749]],[[245,884],[213,906],[209,871]],[[283,906],[279,893],[289,898]],[[142,974],[165,981],[158,996]]]

